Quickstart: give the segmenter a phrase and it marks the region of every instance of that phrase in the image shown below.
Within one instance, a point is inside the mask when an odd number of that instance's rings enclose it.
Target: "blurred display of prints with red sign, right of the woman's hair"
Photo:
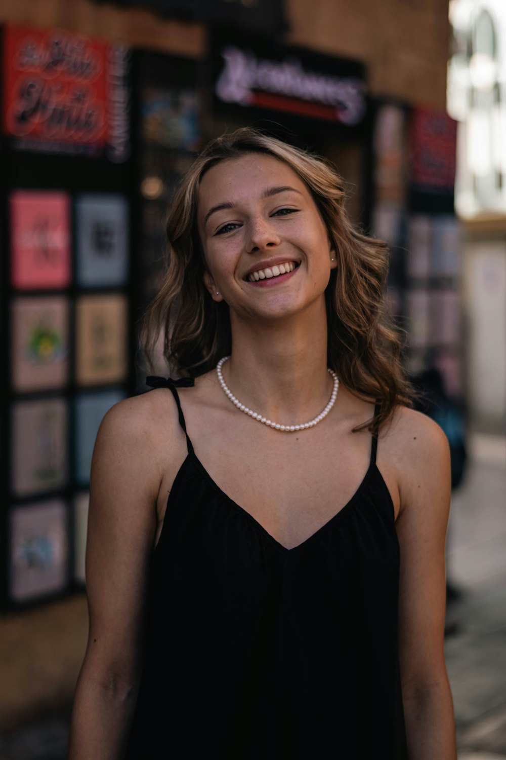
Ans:
[[[410,375],[437,369],[464,400],[463,238],[454,213],[456,124],[445,112],[376,103],[372,232],[391,250],[391,311]]]

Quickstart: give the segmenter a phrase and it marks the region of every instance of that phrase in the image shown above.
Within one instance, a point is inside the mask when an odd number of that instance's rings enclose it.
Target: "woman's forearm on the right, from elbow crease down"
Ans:
[[[403,689],[402,697],[409,760],[457,760],[448,679],[437,686]]]

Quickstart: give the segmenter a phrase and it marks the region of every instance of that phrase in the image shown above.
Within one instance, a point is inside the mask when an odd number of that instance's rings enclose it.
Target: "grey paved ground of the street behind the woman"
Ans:
[[[506,438],[473,436],[454,493],[445,654],[458,760],[506,760]],[[70,708],[0,737],[0,760],[64,760]]]

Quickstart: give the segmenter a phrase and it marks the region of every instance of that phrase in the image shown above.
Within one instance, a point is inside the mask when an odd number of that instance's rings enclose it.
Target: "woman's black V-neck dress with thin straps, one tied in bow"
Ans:
[[[376,467],[287,549],[188,454],[152,554],[127,760],[407,760],[399,544]],[[375,413],[377,413],[376,407]]]

